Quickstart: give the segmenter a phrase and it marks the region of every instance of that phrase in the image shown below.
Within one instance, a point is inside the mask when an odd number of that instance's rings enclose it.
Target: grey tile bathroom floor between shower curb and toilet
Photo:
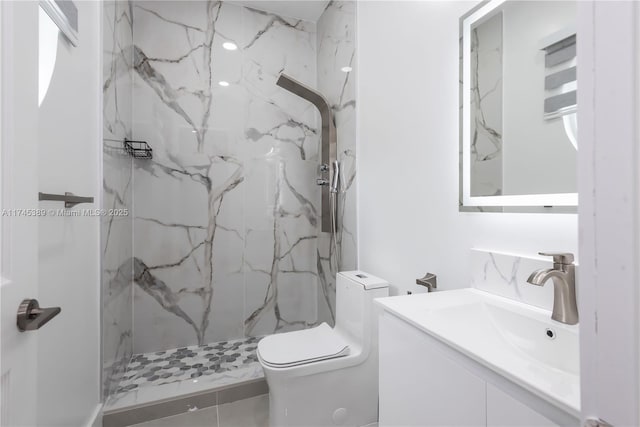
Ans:
[[[131,427],[267,427],[269,395],[251,397]]]

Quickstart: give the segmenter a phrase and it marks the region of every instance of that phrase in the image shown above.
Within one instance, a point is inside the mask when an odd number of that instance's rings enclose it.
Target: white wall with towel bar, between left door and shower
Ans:
[[[58,39],[55,71],[38,113],[39,190],[93,196],[100,207],[101,5],[78,7],[77,47]],[[61,209],[60,202],[40,202]],[[62,312],[38,333],[38,425],[82,426],[100,402],[100,218],[38,221],[39,293]],[[25,295],[26,296],[26,295]]]

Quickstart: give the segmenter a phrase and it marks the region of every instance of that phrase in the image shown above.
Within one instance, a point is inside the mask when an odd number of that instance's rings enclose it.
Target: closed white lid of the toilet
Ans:
[[[349,343],[326,323],[311,329],[265,337],[258,343],[267,365],[285,368],[349,354]]]

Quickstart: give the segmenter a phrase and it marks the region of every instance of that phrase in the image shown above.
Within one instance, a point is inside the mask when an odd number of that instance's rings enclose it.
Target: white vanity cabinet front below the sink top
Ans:
[[[391,313],[380,315],[379,334],[381,427],[579,425]]]

